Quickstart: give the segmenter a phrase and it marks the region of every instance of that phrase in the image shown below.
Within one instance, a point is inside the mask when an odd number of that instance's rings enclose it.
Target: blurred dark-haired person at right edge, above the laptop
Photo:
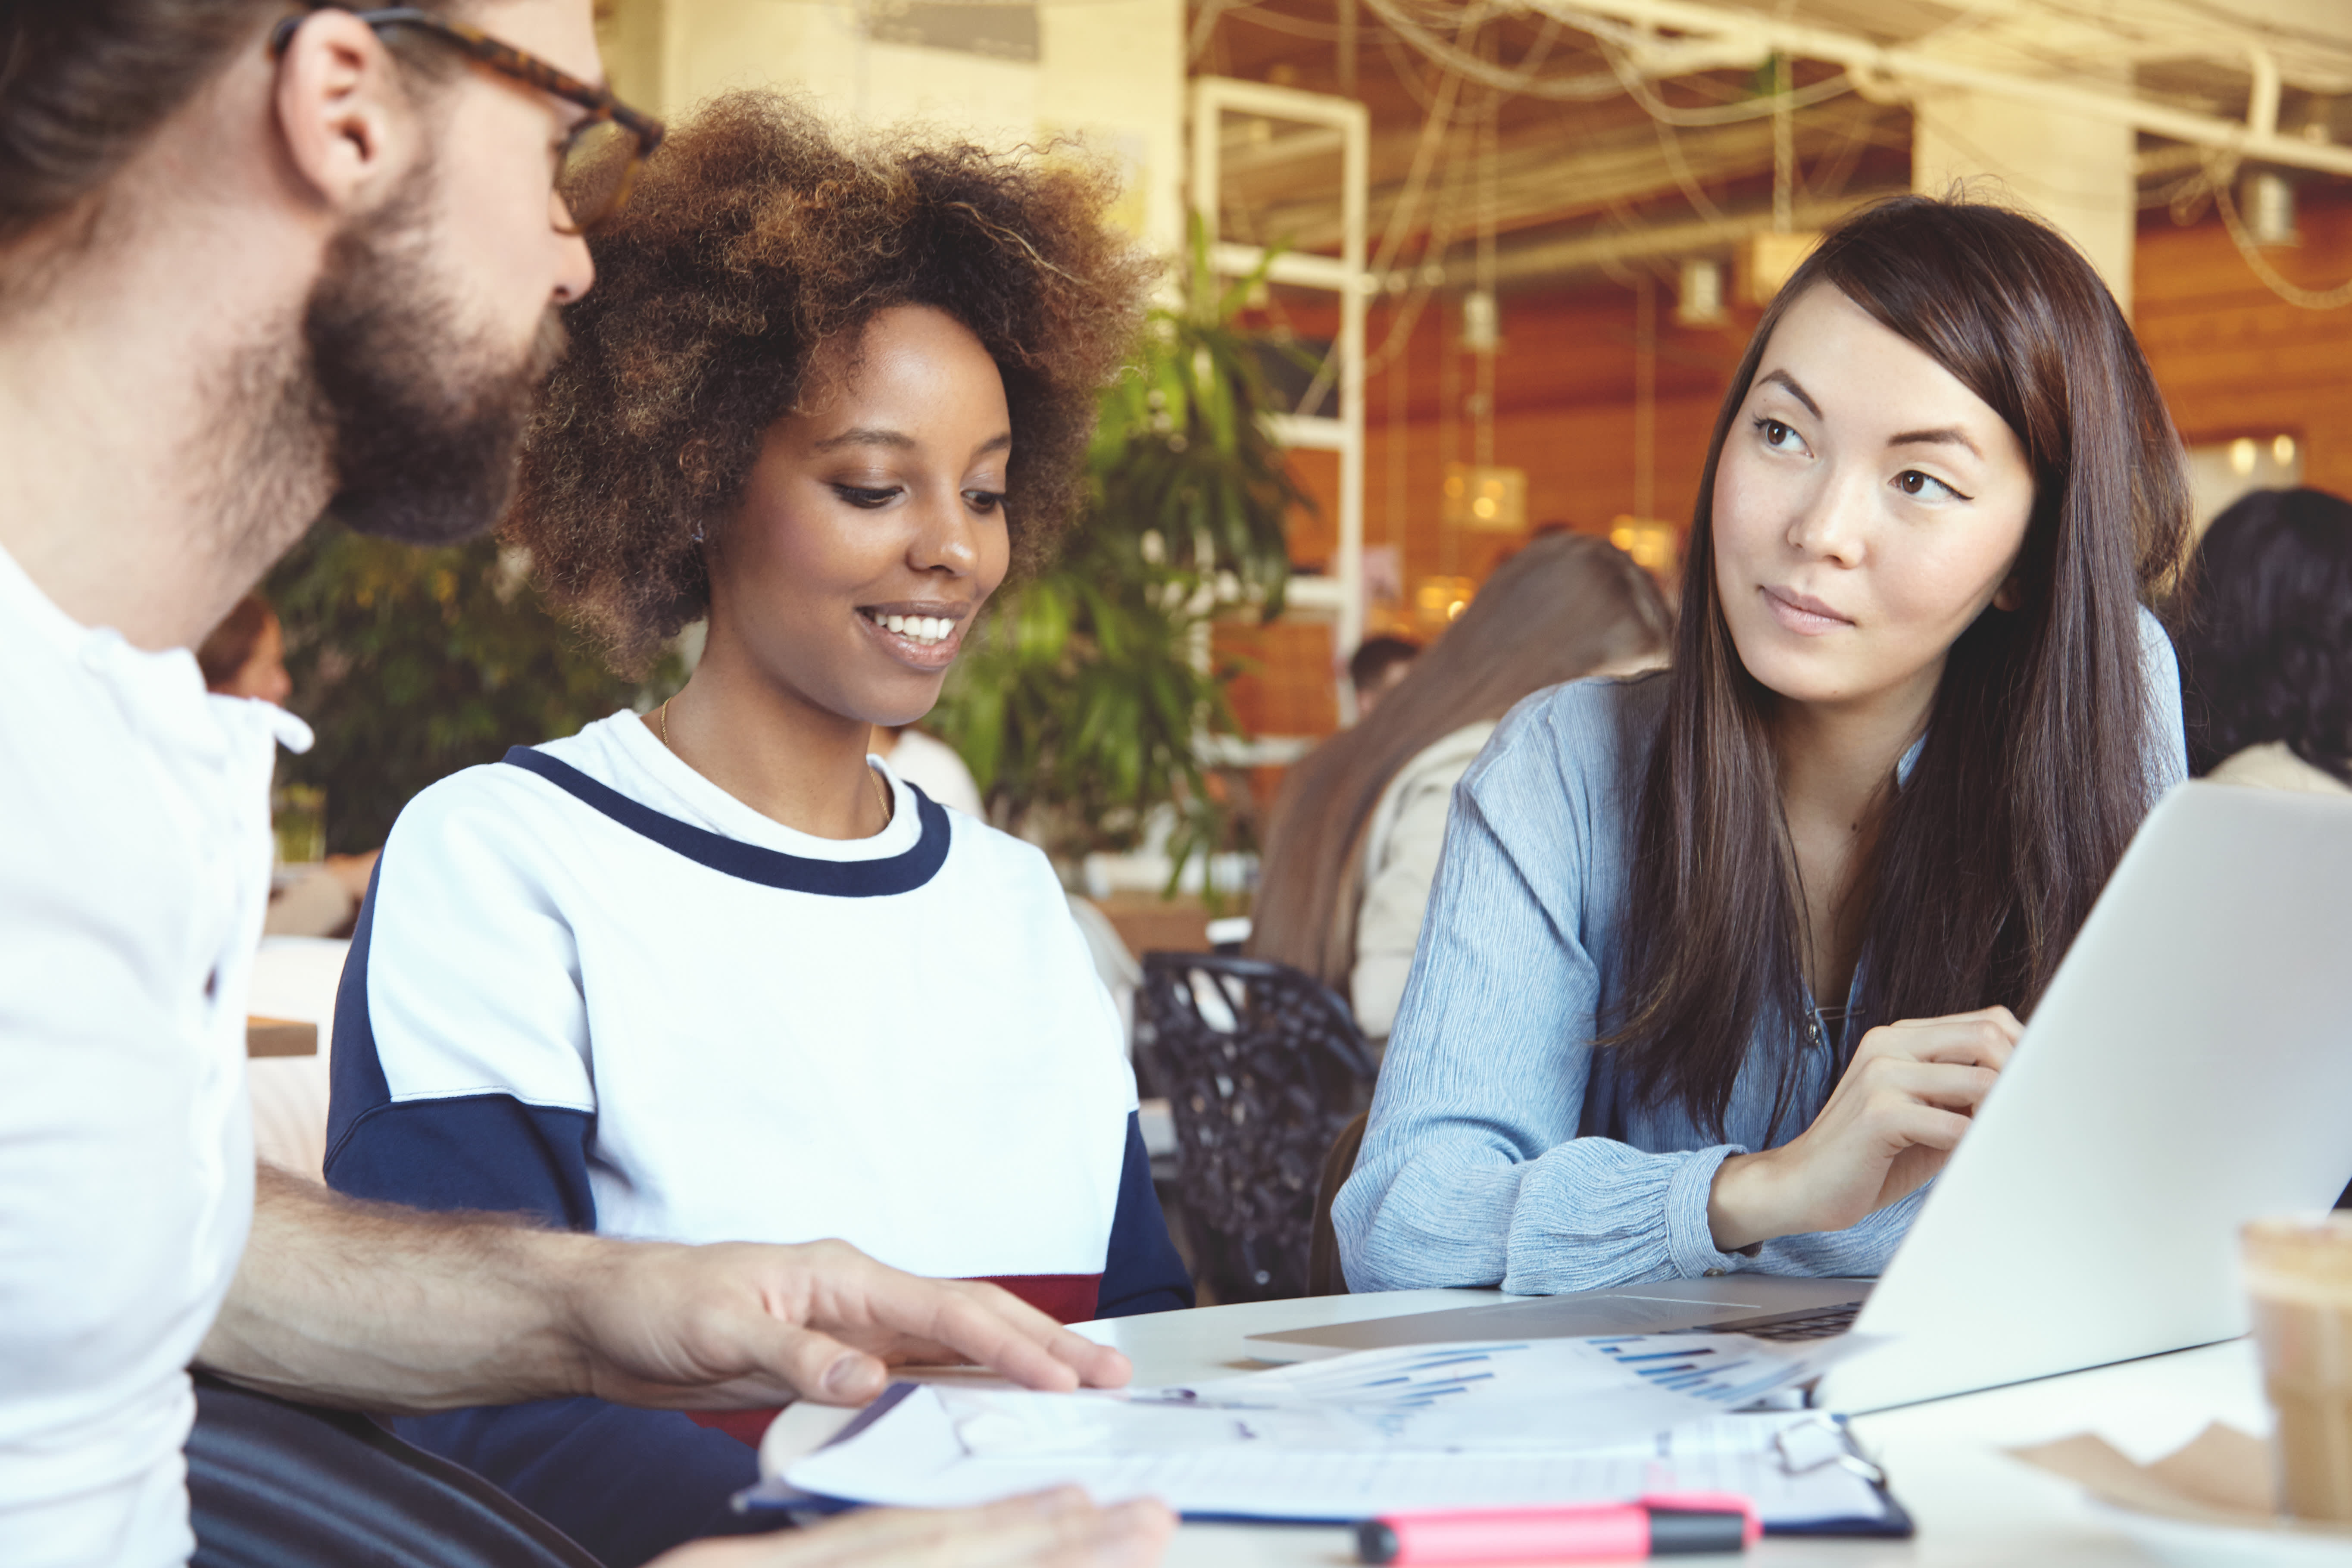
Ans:
[[[2352,501],[2253,491],[2206,529],[2190,585],[2190,771],[2352,795]]]

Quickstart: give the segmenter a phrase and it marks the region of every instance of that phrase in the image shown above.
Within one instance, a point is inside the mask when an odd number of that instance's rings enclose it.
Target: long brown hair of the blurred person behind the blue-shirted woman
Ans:
[[[1249,952],[1345,992],[1364,830],[1404,764],[1534,691],[1661,654],[1670,637],[1658,585],[1609,541],[1548,534],[1512,555],[1369,719],[1317,745],[1282,783]]]

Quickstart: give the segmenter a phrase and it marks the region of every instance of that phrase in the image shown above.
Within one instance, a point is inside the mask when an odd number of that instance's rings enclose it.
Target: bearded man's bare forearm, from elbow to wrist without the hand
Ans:
[[[590,1237],[341,1199],[270,1166],[198,1363],[273,1394],[447,1410],[588,1389],[572,1302]]]

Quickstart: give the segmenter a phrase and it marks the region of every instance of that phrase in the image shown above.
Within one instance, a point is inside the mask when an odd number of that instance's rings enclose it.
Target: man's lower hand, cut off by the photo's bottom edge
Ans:
[[[1098,1509],[1063,1488],[983,1509],[875,1509],[811,1530],[706,1540],[652,1568],[1150,1568],[1174,1528],[1157,1502]]]

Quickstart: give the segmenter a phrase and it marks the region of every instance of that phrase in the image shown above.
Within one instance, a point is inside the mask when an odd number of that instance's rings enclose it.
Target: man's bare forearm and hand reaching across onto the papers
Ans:
[[[842,1241],[666,1246],[339,1199],[270,1166],[198,1363],[287,1399],[428,1413],[600,1394],[673,1410],[863,1403],[889,1361],[978,1361],[1033,1389],[1127,1356],[981,1284]]]

